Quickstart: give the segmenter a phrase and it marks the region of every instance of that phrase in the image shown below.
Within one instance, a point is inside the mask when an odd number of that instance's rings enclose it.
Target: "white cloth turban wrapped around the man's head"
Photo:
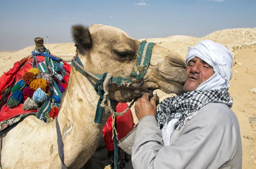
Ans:
[[[233,57],[225,46],[210,40],[201,41],[195,46],[188,47],[186,63],[188,64],[188,61],[194,57],[198,57],[212,66],[215,72],[209,79],[198,86],[196,91],[228,89],[230,87],[229,81],[232,78]]]

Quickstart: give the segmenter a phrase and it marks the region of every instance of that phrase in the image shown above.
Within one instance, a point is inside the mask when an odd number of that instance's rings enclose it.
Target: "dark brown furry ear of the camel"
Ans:
[[[83,54],[86,49],[92,47],[92,37],[87,27],[83,25],[72,26],[72,37],[77,50]]]

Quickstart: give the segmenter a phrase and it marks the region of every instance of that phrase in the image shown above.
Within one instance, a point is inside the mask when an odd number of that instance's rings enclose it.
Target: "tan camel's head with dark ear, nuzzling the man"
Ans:
[[[142,30],[143,31],[143,30]],[[113,77],[130,77],[140,42],[123,30],[105,26],[82,25],[72,27],[73,40],[84,67],[93,74],[108,72]],[[160,89],[166,93],[179,93],[187,79],[186,63],[181,56],[169,49],[154,45],[150,64],[144,76],[149,91]],[[134,85],[137,85],[135,83]],[[141,88],[110,86],[110,97],[118,102],[130,102],[142,96]]]

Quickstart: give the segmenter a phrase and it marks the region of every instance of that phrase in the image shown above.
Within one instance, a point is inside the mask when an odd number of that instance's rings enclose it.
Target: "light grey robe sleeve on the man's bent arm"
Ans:
[[[134,169],[205,169],[228,163],[236,146],[236,129],[229,112],[218,106],[204,106],[170,146],[164,146],[154,116],[138,124],[132,165]]]

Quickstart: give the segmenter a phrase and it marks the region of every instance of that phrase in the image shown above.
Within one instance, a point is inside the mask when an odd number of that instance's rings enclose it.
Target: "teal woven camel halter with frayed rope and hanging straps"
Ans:
[[[144,84],[143,77],[145,76],[147,68],[149,66],[151,53],[152,53],[152,49],[153,49],[154,45],[155,45],[155,43],[146,42],[146,41],[142,41],[140,43],[139,51],[137,54],[137,62],[134,65],[133,71],[130,73],[130,77],[121,77],[121,76],[112,77],[112,75],[108,74],[108,73],[104,73],[103,75],[93,74],[85,69],[85,67],[83,66],[78,55],[74,56],[71,60],[72,66],[88,79],[88,81],[93,85],[94,89],[98,92],[98,94],[100,96],[100,99],[99,99],[99,102],[97,105],[94,122],[101,123],[102,113],[103,113],[102,108],[104,108],[104,109],[108,108],[109,111],[112,113],[112,119],[113,119],[112,127],[113,127],[114,151],[115,151],[114,152],[115,153],[115,155],[114,155],[115,169],[117,169],[117,163],[118,163],[117,138],[116,138],[116,136],[117,136],[116,115],[123,115],[124,113],[126,113],[135,101],[133,101],[130,104],[130,106],[122,113],[116,113],[111,108],[110,103],[115,102],[115,101],[113,101],[108,95],[109,86],[104,86],[103,82],[104,82],[104,84],[114,84],[115,83],[117,86],[123,86],[123,85],[127,86],[127,87],[131,86],[131,87],[140,88],[144,91],[147,91],[148,90],[147,85]],[[94,84],[94,82],[89,77],[95,78],[96,80],[98,80],[98,82],[96,84]],[[107,81],[107,83],[105,83],[106,81]],[[137,85],[133,85],[134,82],[136,82]],[[103,89],[102,89],[102,87],[103,87]],[[108,106],[105,103],[108,103]],[[61,168],[68,169],[64,164],[63,142],[61,139],[61,133],[60,133],[57,117],[55,118],[55,120],[56,120],[56,128],[57,128],[57,143],[58,143],[59,157],[62,162]]]

